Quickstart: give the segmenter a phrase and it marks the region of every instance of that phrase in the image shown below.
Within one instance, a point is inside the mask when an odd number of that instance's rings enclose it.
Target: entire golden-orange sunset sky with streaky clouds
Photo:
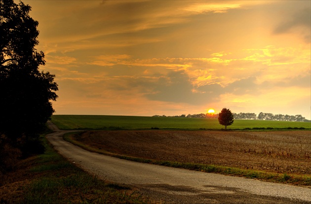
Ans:
[[[23,2],[59,85],[55,114],[311,119],[310,0]]]

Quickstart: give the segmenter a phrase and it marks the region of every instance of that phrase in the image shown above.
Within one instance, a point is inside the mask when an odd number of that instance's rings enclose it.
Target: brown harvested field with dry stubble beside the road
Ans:
[[[78,141],[115,154],[311,175],[311,131],[87,131]]]

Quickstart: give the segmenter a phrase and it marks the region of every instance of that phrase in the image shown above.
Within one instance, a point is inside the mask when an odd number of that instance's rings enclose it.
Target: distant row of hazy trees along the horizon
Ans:
[[[180,115],[180,116],[159,116],[155,115],[153,117],[178,117],[178,118],[209,118],[209,119],[217,119],[218,114],[188,114],[187,116],[185,114]],[[234,119],[239,119],[239,120],[265,120],[265,121],[293,121],[293,122],[311,122],[310,120],[307,120],[305,117],[302,115],[296,115],[296,116],[289,116],[289,115],[282,115],[282,114],[277,114],[273,115],[272,113],[263,113],[261,112],[258,117],[255,113],[233,113]]]

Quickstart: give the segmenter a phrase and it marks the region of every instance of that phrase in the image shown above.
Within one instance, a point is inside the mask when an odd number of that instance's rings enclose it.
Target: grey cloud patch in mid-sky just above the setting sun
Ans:
[[[146,97],[151,100],[202,105],[219,101],[220,96],[225,93],[256,95],[259,85],[255,81],[255,77],[250,77],[232,82],[227,86],[219,83],[196,86],[187,73],[180,70],[172,71],[148,85],[142,84],[152,89],[152,93],[146,94]]]

